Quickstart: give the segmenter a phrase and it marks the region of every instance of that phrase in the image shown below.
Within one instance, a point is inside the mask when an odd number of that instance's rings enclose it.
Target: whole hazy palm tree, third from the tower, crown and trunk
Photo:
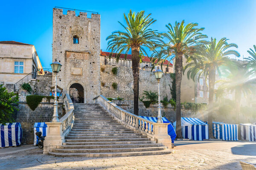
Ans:
[[[191,56],[188,59],[188,64],[184,67],[184,71],[189,68],[187,72],[188,78],[192,78],[195,81],[196,77],[200,77],[204,74],[205,77],[209,77],[209,107],[208,107],[208,125],[209,125],[209,138],[213,138],[212,134],[212,112],[213,112],[213,97],[214,97],[214,85],[216,78],[216,71],[221,74],[221,65],[230,65],[229,55],[235,55],[237,57],[240,54],[230,48],[237,48],[236,44],[227,43],[227,38],[221,38],[219,42],[216,39],[211,38],[211,41],[204,45],[195,56]]]

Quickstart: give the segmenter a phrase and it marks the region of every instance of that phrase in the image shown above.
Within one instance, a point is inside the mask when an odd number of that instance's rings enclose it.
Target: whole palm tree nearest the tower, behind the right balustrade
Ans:
[[[128,17],[124,14],[126,25],[119,23],[125,28],[125,31],[114,31],[106,39],[108,40],[108,49],[111,50],[111,55],[113,52],[116,53],[117,61],[121,53],[125,53],[126,59],[131,50],[134,77],[134,114],[136,115],[139,114],[139,75],[142,54],[147,55],[145,47],[152,50],[162,39],[156,30],[148,28],[156,20],[150,17],[151,14],[145,16],[144,13],[144,11],[140,11],[135,15],[130,10]]]

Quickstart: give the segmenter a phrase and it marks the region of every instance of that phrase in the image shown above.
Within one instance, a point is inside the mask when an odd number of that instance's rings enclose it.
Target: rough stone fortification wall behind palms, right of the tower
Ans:
[[[100,82],[101,82],[101,94],[105,97],[116,98],[117,96],[131,100],[134,98],[133,93],[133,75],[132,68],[127,67],[117,67],[117,74],[112,73],[112,68],[116,66],[112,65],[101,65],[101,68],[104,68],[104,71],[100,73]],[[101,70],[102,70],[101,69]],[[112,83],[117,83],[117,89],[113,89]],[[155,75],[151,71],[140,70],[140,80],[139,80],[139,95],[143,96],[143,91],[158,91],[157,80]],[[168,99],[171,98],[170,86],[172,86],[172,79],[170,74],[163,74],[162,79],[160,80],[160,96],[163,99],[163,96],[168,96]]]

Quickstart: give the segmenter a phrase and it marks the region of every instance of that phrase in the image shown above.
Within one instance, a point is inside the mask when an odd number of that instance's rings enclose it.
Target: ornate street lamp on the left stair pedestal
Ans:
[[[50,65],[52,67],[52,72],[55,73],[54,112],[52,116],[52,122],[59,122],[57,102],[57,73],[60,71],[62,65],[59,62],[57,62],[57,59],[55,59],[55,62],[52,62],[52,64]]]

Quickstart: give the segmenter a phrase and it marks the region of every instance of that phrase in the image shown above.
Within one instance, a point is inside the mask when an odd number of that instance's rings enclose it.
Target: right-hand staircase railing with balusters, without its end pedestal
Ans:
[[[104,107],[109,113],[111,113],[116,119],[118,119],[119,122],[137,130],[141,130],[148,136],[154,136],[154,127],[155,125],[157,125],[157,123],[148,121],[133,113],[125,111],[124,109],[120,108],[115,103],[111,102],[102,95],[94,98],[93,102],[102,105],[102,107]]]

